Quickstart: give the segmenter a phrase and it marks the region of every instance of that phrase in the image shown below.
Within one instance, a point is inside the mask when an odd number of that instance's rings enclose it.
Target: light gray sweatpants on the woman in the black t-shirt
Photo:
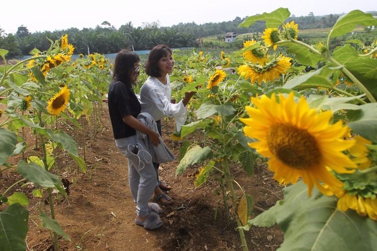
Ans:
[[[148,202],[156,187],[156,172],[148,148],[136,136],[117,139],[115,144],[128,159],[128,181],[136,203],[136,213],[145,217],[148,215]]]

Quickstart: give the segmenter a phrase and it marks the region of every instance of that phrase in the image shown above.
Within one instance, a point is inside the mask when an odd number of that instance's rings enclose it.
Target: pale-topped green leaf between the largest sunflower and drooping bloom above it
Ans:
[[[333,84],[329,80],[333,73],[339,72],[341,67],[324,66],[316,71],[308,72],[290,79],[282,88],[317,88],[318,86],[332,88]]]

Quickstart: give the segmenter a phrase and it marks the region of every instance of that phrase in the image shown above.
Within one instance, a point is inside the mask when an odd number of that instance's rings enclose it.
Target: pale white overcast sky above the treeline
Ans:
[[[116,29],[132,22],[134,27],[158,22],[160,26],[179,23],[219,23],[278,8],[288,8],[296,17],[342,14],[352,10],[377,11],[375,0],[64,0],[2,1],[0,28],[16,33],[24,26],[29,32],[95,28],[104,21]]]

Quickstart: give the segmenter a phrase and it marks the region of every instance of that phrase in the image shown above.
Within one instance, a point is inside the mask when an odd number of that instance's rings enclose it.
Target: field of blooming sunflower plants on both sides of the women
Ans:
[[[286,23],[290,15],[279,8],[248,17],[240,26],[265,21],[266,29],[240,51],[174,50],[173,96],[197,92],[187,105],[186,124],[170,136],[182,146],[175,175],[197,165],[195,186],[209,177],[219,182],[226,219],[235,219],[243,250],[251,248],[244,231],[274,224],[284,231],[279,250],[376,250],[377,39],[370,45],[355,39],[330,45],[356,26],[377,26],[377,20],[351,11],[326,41],[309,45],[300,41],[297,24]],[[0,68],[0,86],[6,87],[0,96],[7,105],[0,110],[0,176],[16,170],[23,177],[0,191],[0,250],[26,249],[29,200],[23,193],[8,194],[25,181],[38,188],[33,196],[48,195],[50,206],[39,219],[52,231],[55,250],[58,235],[69,239],[54,216],[53,191],[67,196],[55,160],[67,153],[74,171],[86,172],[78,134],[95,136],[112,68],[100,54],[71,62],[73,52],[63,36],[49,50],[35,49],[33,57]],[[4,62],[6,55],[0,49]],[[139,82],[145,78],[142,73]],[[82,119],[90,129],[81,126]],[[25,132],[35,135],[34,148],[24,141]],[[26,148],[36,155],[26,158]],[[260,163],[284,186],[285,196],[251,218],[253,196],[233,178],[232,166],[253,176]]]

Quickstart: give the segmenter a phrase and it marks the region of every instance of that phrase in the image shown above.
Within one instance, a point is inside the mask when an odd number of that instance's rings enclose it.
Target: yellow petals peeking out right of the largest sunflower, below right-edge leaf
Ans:
[[[372,142],[359,135],[353,137],[353,139],[356,141],[356,144],[348,149],[349,153],[354,157],[351,160],[356,163],[360,169],[369,168],[371,160],[368,158],[369,149],[366,145],[371,145]]]

